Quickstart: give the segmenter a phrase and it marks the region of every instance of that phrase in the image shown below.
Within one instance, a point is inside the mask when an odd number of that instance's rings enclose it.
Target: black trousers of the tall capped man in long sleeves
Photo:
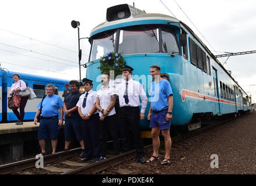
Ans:
[[[122,137],[122,149],[125,152],[129,151],[129,126],[131,126],[137,155],[142,157],[145,155],[145,153],[141,138],[141,129],[139,128],[139,114],[139,107],[120,107],[120,131]]]

